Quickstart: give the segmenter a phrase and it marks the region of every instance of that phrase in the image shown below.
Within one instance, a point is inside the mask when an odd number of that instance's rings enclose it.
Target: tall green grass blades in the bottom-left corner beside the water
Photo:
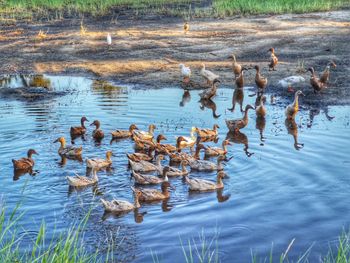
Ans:
[[[85,263],[103,261],[102,258],[98,256],[98,250],[91,253],[85,249],[82,242],[81,233],[90,216],[90,212],[79,224],[73,225],[64,233],[54,233],[54,236],[50,238],[50,240],[46,238],[47,229],[43,222],[36,238],[33,241],[29,241],[30,243],[28,243],[28,241],[22,243],[21,241],[26,234],[20,234],[18,231],[20,229],[18,223],[23,216],[24,213],[18,214],[18,206],[10,214],[6,214],[5,207],[2,207],[0,210],[1,263]],[[21,232],[23,232],[23,230]],[[106,262],[108,260],[111,260],[111,258],[107,258]]]

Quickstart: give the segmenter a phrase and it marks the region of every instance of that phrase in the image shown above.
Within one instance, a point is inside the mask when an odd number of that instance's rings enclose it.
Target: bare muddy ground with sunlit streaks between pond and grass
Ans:
[[[268,92],[287,94],[278,80],[296,75],[299,69],[313,66],[320,73],[330,60],[337,68],[331,72],[331,85],[322,95],[313,95],[310,74],[300,85],[305,101],[327,104],[350,102],[350,10],[300,15],[194,19],[184,34],[180,18],[113,21],[85,19],[86,33],[80,32],[79,19],[48,23],[14,22],[0,27],[0,75],[54,73],[85,75],[161,88],[180,86],[179,63],[191,67],[195,82],[204,80],[199,68],[220,75],[221,86],[234,87],[231,61],[258,64],[268,78]],[[47,33],[38,39],[39,30]],[[107,32],[113,43],[108,48]],[[268,49],[274,47],[280,63],[268,72]],[[300,66],[300,65],[304,66]],[[247,72],[246,85],[254,86],[255,71]],[[299,87],[296,87],[299,88]],[[310,95],[310,96],[308,96]]]

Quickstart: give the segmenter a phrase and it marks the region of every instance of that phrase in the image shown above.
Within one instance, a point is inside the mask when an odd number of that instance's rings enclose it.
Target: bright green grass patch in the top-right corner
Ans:
[[[349,0],[214,0],[219,15],[284,14],[329,11],[349,7]]]

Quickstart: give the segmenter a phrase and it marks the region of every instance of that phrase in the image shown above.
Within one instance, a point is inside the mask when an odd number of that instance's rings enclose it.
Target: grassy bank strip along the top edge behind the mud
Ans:
[[[104,16],[118,10],[135,14],[230,16],[329,11],[349,7],[350,0],[0,0],[0,16],[7,18],[60,19],[72,16]],[[195,8],[191,8],[194,6]]]

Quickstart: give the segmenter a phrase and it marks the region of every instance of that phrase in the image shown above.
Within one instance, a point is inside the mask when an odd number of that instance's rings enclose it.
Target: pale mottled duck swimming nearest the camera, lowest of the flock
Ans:
[[[103,198],[101,198],[101,203],[105,211],[108,213],[125,213],[141,207],[139,202],[140,196],[141,196],[141,192],[139,191],[134,192],[133,204],[126,200],[113,199],[112,201],[107,201]]]

